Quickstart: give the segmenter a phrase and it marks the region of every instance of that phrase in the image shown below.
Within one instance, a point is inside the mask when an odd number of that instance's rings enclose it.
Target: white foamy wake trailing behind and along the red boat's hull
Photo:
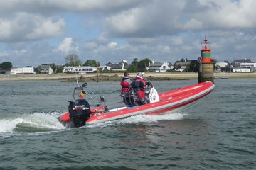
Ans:
[[[0,119],[0,135],[8,137],[18,134],[42,134],[67,129],[58,120],[62,112],[33,113],[23,115],[12,115]],[[166,113],[163,115],[135,115],[121,120],[113,120],[105,123],[85,126],[86,128],[105,127],[111,125],[152,123],[159,120],[181,120],[186,113]]]

